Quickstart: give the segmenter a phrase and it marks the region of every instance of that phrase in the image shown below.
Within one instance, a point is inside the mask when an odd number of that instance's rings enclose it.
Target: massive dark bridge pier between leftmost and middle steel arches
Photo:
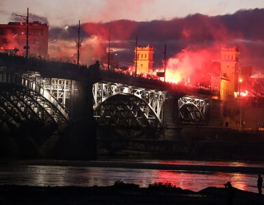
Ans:
[[[72,81],[70,120],[53,154],[66,159],[95,159],[96,123],[93,118],[92,83]]]

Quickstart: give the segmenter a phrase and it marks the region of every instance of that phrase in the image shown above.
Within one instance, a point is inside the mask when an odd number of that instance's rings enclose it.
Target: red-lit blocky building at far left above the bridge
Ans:
[[[25,55],[27,23],[0,25],[0,52]],[[49,26],[39,21],[29,23],[29,56],[48,57]]]

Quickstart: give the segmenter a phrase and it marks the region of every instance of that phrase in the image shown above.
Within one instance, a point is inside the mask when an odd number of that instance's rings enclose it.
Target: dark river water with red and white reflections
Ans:
[[[222,167],[227,171],[223,172]],[[237,172],[236,167],[242,167],[242,171]],[[248,167],[250,169],[243,172],[243,167],[245,170]],[[259,174],[264,174],[264,163],[184,160],[12,161],[0,163],[0,184],[86,187],[109,186],[121,180],[139,184],[140,187],[148,187],[154,182],[170,182],[182,189],[200,191],[206,187],[224,187],[224,183],[230,181],[238,189],[256,193],[256,171],[259,170]]]

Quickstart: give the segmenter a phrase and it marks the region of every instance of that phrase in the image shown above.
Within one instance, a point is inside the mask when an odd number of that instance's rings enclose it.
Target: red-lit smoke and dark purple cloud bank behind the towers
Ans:
[[[107,18],[107,14],[104,15]],[[221,16],[193,14],[172,20],[145,22],[114,20],[106,23],[82,23],[81,55],[83,62],[88,61],[88,58],[95,54],[96,57],[105,55],[110,30],[111,49],[118,53],[116,58],[120,61],[133,62],[135,36],[138,36],[138,44],[141,46],[150,44],[162,50],[164,44],[167,44],[169,65],[175,64],[174,59],[178,61],[184,59],[185,63],[189,59],[186,66],[195,67],[196,70],[202,66],[202,61],[220,60],[221,44],[230,46],[236,44],[241,51],[242,66],[253,66],[255,71],[263,72],[263,19],[264,9],[254,9],[239,10],[235,14]],[[76,27],[76,25],[72,26]],[[74,42],[73,39],[77,38],[77,33],[73,29],[66,31],[59,27],[50,29],[49,35],[50,38],[69,42]],[[155,50],[154,59],[155,67],[161,67],[163,52]],[[185,63],[180,61],[178,65],[181,64],[180,67],[182,67]]]

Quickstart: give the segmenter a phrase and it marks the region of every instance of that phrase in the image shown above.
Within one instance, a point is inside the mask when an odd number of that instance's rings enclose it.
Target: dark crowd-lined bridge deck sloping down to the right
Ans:
[[[133,77],[131,75],[118,72],[96,70],[92,66],[89,68],[87,66],[78,67],[76,64],[70,64],[68,62],[49,61],[37,58],[25,59],[25,57],[7,55],[3,53],[0,54],[0,66],[13,68],[16,71],[20,70],[21,72],[37,72],[42,77],[81,80],[91,83],[96,83],[98,81],[124,83],[126,85],[176,93],[180,96],[198,95],[211,98],[212,96],[217,95],[210,90],[204,90],[202,88],[187,87],[185,85],[166,83],[144,77]]]

